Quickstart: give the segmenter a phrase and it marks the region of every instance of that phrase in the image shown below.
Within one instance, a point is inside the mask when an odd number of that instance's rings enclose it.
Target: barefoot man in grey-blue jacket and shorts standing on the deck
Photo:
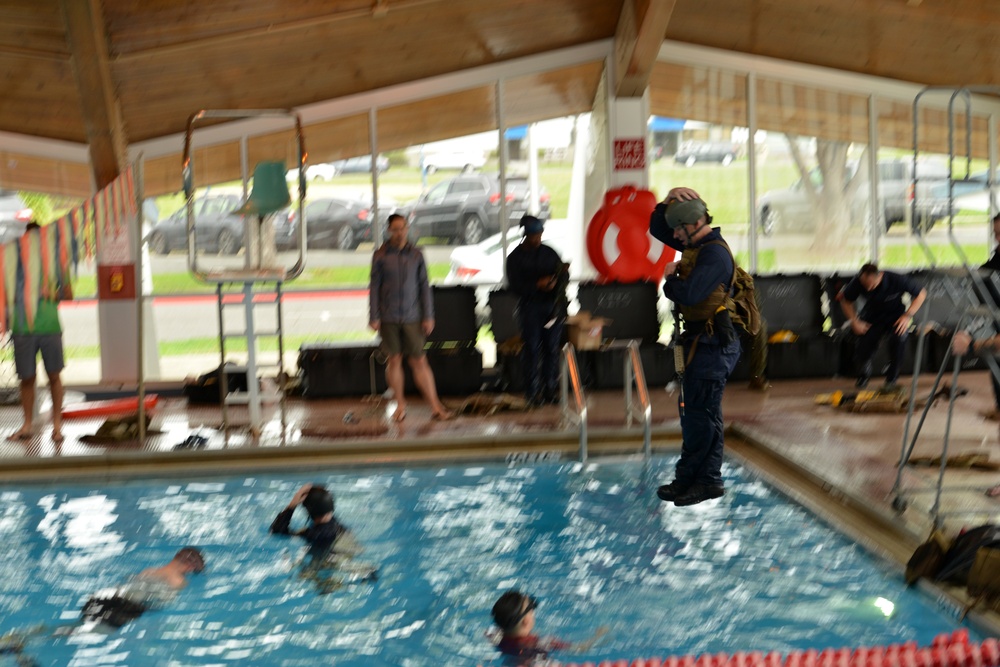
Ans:
[[[396,399],[393,419],[406,418],[404,355],[413,382],[431,407],[431,417],[451,419],[452,413],[438,399],[434,373],[424,354],[427,336],[434,331],[434,300],[424,255],[407,238],[409,227],[403,216],[389,216],[389,238],[372,256],[368,326],[382,336],[382,350],[388,357],[385,380]]]

